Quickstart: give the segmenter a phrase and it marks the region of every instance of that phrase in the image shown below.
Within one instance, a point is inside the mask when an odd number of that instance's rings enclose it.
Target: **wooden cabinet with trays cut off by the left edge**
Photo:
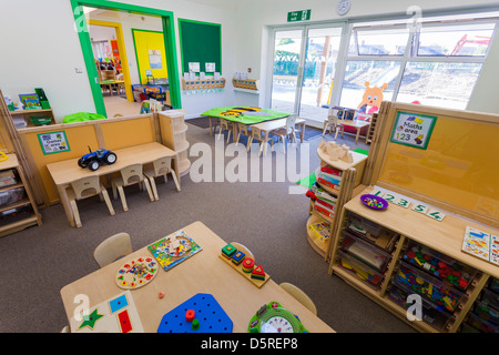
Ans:
[[[0,236],[41,225],[41,216],[16,154],[0,162]]]

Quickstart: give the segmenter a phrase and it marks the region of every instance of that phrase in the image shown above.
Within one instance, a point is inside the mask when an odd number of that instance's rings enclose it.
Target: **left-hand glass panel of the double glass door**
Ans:
[[[302,30],[275,32],[271,95],[273,110],[296,112],[302,33]]]

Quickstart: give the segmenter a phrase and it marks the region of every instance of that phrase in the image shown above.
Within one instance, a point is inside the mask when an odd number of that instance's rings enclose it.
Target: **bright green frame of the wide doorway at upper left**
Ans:
[[[175,32],[174,32],[174,22],[173,22],[173,12],[171,11],[164,11],[159,9],[152,9],[152,8],[144,8],[139,6],[132,6],[126,3],[120,3],[120,2],[110,2],[104,0],[71,0],[71,6],[73,8],[73,16],[75,21],[75,30],[79,34],[80,44],[83,52],[83,58],[85,61],[86,72],[89,75],[89,82],[90,88],[92,91],[93,100],[95,103],[95,111],[99,114],[102,114],[104,116],[113,116],[112,114],[108,113],[106,105],[104,102],[103,97],[103,89],[101,85],[100,80],[100,73],[98,63],[94,60],[91,38],[89,34],[89,27],[90,23],[86,23],[86,10],[88,8],[91,9],[98,9],[101,11],[108,11],[109,13],[114,14],[116,18],[116,21],[110,21],[114,24],[119,24],[119,18],[122,14],[128,16],[134,16],[134,17],[151,17],[156,20],[159,23],[159,30],[163,33],[163,42],[164,42],[164,51],[165,51],[165,58],[166,60],[166,68],[167,72],[175,73],[177,72],[177,61],[176,61],[176,45],[175,45]],[[115,27],[116,29],[116,27]],[[116,40],[119,38],[118,34],[119,30],[116,30]],[[121,31],[123,34],[123,30]],[[130,33],[126,32],[126,36],[132,36],[131,31]],[[123,43],[122,43],[123,44]],[[125,79],[124,73],[124,67],[129,65],[129,62],[124,61],[123,54],[126,54],[124,44],[122,48],[120,48],[119,43],[116,43],[118,51],[121,57],[121,67],[123,70],[123,79]],[[133,47],[133,44],[131,44]],[[128,43],[128,47],[130,48],[130,43]],[[129,59],[130,59],[129,54]],[[131,67],[132,68],[132,67]],[[136,69],[136,67],[135,67]],[[136,70],[135,70],[136,71]],[[130,73],[129,82],[125,82],[125,94],[128,100],[123,100],[124,103],[135,103],[133,101],[136,101],[134,98],[134,94],[132,92],[133,84],[140,84],[139,74],[136,73],[136,79],[134,78],[133,73]],[[180,109],[182,108],[181,103],[181,93],[180,93],[180,81],[176,75],[172,75],[172,78],[169,78],[169,98],[171,105],[173,108]],[[132,101],[130,100],[132,99]],[[140,111],[136,110],[136,114],[139,114]]]

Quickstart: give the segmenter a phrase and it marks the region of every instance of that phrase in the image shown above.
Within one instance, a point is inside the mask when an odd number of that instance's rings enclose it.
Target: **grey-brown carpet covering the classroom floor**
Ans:
[[[189,126],[191,146],[214,145],[207,130]],[[332,135],[326,135],[332,140]],[[319,164],[317,136],[310,144],[310,169]],[[345,135],[337,143],[352,149],[367,146]],[[274,162],[276,153],[273,153]],[[192,161],[198,158],[191,158]],[[233,158],[225,158],[225,163]],[[83,227],[69,226],[60,204],[41,210],[42,226],[0,239],[0,332],[59,332],[68,324],[60,290],[98,270],[93,250],[108,236],[128,232],[133,250],[202,221],[225,241],[246,245],[265,265],[276,283],[291,282],[316,303],[318,315],[343,333],[413,333],[396,316],[355,291],[336,275],[306,241],[308,199],[288,194],[291,182],[200,182],[182,179],[182,191],[173,181],[159,183],[160,201],[150,202],[134,186],[126,190],[130,211],[113,201],[109,215],[98,197],[79,202]],[[304,191],[305,193],[305,191]],[[257,310],[255,310],[256,312]]]

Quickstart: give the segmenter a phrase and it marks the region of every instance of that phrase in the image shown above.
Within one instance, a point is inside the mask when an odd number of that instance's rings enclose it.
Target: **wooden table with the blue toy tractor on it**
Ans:
[[[79,158],[47,164],[47,169],[49,170],[49,173],[51,174],[58,189],[68,221],[72,226],[74,226],[74,216],[67,194],[67,189],[71,182],[90,175],[104,176],[118,172],[128,165],[136,163],[152,163],[156,159],[163,156],[176,158],[176,153],[174,151],[157,142],[123,148],[113,152],[118,156],[116,162],[111,165],[102,164],[96,171],[80,168],[78,165]]]

